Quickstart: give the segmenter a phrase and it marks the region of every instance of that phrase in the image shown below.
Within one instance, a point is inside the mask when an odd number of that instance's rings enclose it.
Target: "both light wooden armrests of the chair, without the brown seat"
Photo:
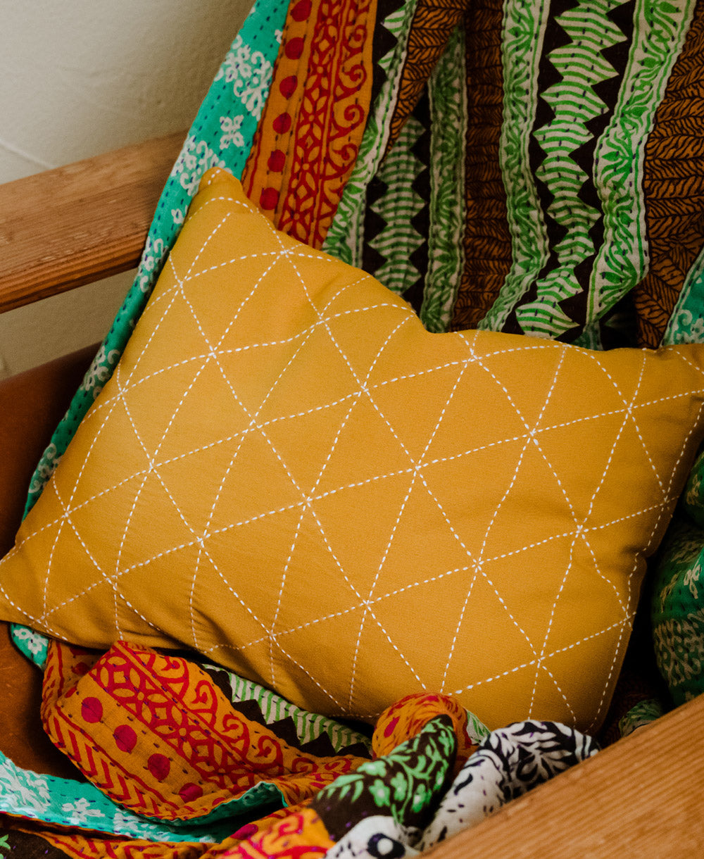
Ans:
[[[162,137],[0,186],[0,313],[137,265],[183,139],[182,133]],[[702,728],[704,696],[513,801],[432,855],[701,859]]]

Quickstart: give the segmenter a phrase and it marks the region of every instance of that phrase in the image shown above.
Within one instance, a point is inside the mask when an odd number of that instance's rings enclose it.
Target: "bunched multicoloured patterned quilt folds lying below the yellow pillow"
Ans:
[[[369,760],[360,734],[263,696],[216,667],[127,643],[100,658],[55,644],[44,719],[89,783],[0,762],[0,810],[14,816],[0,844],[214,859],[347,856],[391,838],[413,855],[598,749],[548,723],[489,734],[452,699],[418,695],[379,719]]]

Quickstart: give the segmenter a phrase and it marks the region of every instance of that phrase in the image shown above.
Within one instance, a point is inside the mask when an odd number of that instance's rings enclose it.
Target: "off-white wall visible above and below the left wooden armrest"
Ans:
[[[252,0],[0,0],[0,182],[187,129]],[[0,315],[0,376],[100,340],[132,272]]]

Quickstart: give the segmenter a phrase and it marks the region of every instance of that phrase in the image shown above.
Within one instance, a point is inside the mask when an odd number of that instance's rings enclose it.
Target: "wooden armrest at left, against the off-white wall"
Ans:
[[[185,132],[0,186],[0,313],[128,271]]]

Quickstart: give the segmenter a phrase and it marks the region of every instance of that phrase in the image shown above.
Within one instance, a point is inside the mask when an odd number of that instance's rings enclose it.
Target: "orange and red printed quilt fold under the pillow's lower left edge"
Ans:
[[[360,763],[332,749],[307,758],[298,744],[274,740],[270,728],[233,713],[203,669],[185,659],[118,643],[85,673],[85,653],[52,643],[46,733],[96,787],[135,813],[231,818],[281,797],[300,801]],[[305,781],[286,778],[304,771]],[[125,785],[137,772],[130,791]]]

